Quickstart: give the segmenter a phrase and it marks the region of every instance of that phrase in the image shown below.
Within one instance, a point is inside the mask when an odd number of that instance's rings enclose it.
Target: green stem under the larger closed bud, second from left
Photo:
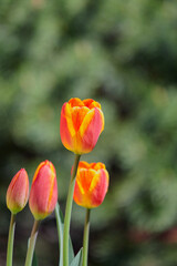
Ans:
[[[32,265],[32,258],[33,258],[39,226],[40,226],[40,221],[35,219],[33,227],[32,227],[31,236],[29,239],[29,246],[28,246],[28,252],[27,252],[27,257],[25,257],[25,266]]]

